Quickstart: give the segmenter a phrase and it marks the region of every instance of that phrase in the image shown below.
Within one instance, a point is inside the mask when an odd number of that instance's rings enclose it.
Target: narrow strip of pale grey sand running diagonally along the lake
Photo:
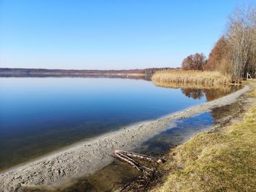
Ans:
[[[245,86],[221,99],[190,107],[159,120],[128,126],[16,167],[0,175],[0,191],[23,191],[23,187],[56,185],[71,177],[92,174],[113,161],[110,157],[113,150],[131,150],[159,131],[173,127],[173,120],[232,104],[249,89],[249,86]]]

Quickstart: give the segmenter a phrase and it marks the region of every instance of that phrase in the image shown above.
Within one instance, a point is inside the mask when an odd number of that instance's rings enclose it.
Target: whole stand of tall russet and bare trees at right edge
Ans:
[[[227,32],[208,58],[206,70],[218,70],[233,78],[256,74],[256,7],[238,8],[228,20]]]

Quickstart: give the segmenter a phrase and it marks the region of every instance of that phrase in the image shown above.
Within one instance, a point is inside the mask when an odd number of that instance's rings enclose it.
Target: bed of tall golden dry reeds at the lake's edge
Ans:
[[[156,72],[151,80],[159,86],[198,86],[230,85],[233,82],[229,75],[220,72],[167,70]]]

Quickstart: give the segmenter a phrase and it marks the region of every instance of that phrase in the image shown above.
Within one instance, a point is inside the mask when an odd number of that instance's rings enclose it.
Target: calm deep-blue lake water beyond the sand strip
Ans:
[[[159,88],[145,80],[2,77],[0,170],[223,94]]]

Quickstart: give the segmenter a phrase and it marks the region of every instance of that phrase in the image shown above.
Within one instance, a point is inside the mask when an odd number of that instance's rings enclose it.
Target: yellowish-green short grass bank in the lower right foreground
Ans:
[[[256,90],[249,97],[256,98]],[[171,150],[169,159],[154,192],[256,191],[256,104],[241,122],[198,134]]]

